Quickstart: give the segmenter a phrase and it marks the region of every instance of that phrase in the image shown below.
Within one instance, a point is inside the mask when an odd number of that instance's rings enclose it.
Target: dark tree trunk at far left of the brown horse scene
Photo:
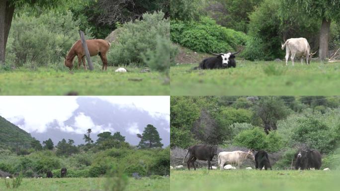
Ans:
[[[12,23],[14,5],[10,6],[8,0],[0,0],[0,63],[4,64],[5,49]]]

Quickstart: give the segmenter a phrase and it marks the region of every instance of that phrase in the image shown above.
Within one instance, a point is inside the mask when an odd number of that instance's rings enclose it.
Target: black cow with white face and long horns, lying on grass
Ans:
[[[214,57],[209,57],[204,59],[198,67],[195,69],[220,69],[220,68],[231,68],[236,67],[235,55],[239,53],[241,49],[237,52],[231,53],[212,53]]]

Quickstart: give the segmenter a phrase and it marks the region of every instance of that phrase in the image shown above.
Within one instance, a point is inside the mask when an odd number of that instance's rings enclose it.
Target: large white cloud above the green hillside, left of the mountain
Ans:
[[[65,121],[79,105],[76,96],[0,96],[0,115],[15,123],[21,116],[25,131],[45,132],[54,119]]]

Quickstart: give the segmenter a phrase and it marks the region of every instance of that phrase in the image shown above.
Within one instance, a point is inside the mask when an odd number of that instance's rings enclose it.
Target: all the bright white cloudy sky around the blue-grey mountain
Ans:
[[[92,96],[93,97],[93,96]],[[148,111],[150,115],[165,118],[170,123],[170,96],[94,96],[124,107],[137,107]],[[63,122],[69,119],[79,107],[78,96],[0,96],[0,115],[27,132],[46,131],[48,124],[53,121]],[[24,118],[23,123],[18,121]],[[93,128],[90,118],[80,114],[75,119],[75,126],[82,129]],[[137,133],[136,124],[131,124],[129,131]],[[77,132],[77,128],[64,126],[64,131]],[[102,129],[101,129],[102,128]],[[96,132],[103,132],[105,128],[95,126]],[[79,131],[79,129],[78,129]],[[138,132],[140,133],[140,132]]]

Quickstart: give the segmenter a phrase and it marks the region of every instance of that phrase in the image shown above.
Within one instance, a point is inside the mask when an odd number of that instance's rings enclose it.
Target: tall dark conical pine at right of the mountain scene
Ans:
[[[160,138],[160,134],[158,133],[156,127],[148,124],[143,131],[138,148],[145,149],[163,147],[161,140],[162,139]]]

